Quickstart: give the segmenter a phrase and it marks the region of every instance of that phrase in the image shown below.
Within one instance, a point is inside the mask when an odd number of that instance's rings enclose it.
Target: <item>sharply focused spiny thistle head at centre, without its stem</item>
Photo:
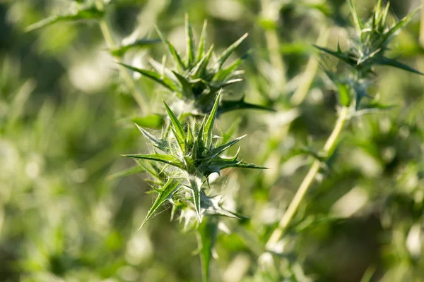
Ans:
[[[170,118],[170,126],[162,133],[161,137],[155,137],[147,130],[139,127],[146,140],[153,145],[153,154],[128,154],[126,157],[144,159],[156,163],[155,169],[148,172],[155,179],[159,177],[162,188],[155,189],[159,196],[153,207],[148,212],[144,223],[153,216],[158,207],[165,202],[193,207],[198,218],[206,214],[220,214],[234,216],[230,212],[218,206],[218,200],[208,197],[204,190],[208,176],[211,173],[220,173],[224,168],[264,168],[247,164],[237,160],[238,152],[233,157],[223,157],[222,154],[239,142],[242,137],[229,141],[228,137],[216,138],[212,135],[213,125],[216,118],[220,94],[218,94],[211,114],[204,117],[198,123],[182,124],[177,116],[165,104],[165,109]],[[218,140],[218,141],[216,141]],[[160,173],[159,173],[160,172]],[[184,191],[185,192],[182,192]],[[178,193],[177,193],[178,192]],[[177,200],[175,200],[177,198]]]

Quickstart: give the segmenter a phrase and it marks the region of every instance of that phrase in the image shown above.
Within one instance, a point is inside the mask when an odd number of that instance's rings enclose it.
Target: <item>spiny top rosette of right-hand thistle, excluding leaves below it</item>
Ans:
[[[379,0],[372,12],[372,16],[364,22],[358,16],[355,1],[350,0],[349,4],[356,30],[355,35],[351,38],[351,44],[349,44],[346,51],[341,51],[339,45],[336,51],[316,46],[318,49],[353,67],[360,78],[366,78],[367,75],[370,75],[372,67],[376,65],[393,66],[412,73],[422,74],[396,59],[389,59],[384,56],[384,52],[389,49],[388,45],[391,39],[402,27],[409,23],[417,13],[418,8],[397,23],[389,26],[387,24],[389,3],[383,8],[382,0]]]

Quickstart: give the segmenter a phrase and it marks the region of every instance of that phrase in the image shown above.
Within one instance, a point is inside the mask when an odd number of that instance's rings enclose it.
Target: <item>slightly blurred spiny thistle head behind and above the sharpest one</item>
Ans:
[[[213,56],[213,45],[206,49],[206,21],[201,31],[199,44],[195,47],[192,25],[190,25],[188,16],[185,18],[186,33],[186,56],[182,58],[174,45],[169,42],[158,30],[158,34],[167,47],[173,61],[173,67],[167,68],[163,63],[150,59],[154,71],[126,66],[147,78],[151,78],[163,85],[165,88],[175,93],[177,98],[184,102],[186,109],[184,112],[190,112],[197,116],[204,116],[211,111],[216,94],[229,85],[241,82],[240,75],[242,71],[237,71],[238,66],[244,61],[247,55],[244,55],[228,66],[224,63],[237,47],[245,40],[247,33],[237,39],[230,47],[225,49],[219,56]],[[213,59],[216,58],[216,59]],[[264,109],[261,106],[247,104],[243,99],[237,102],[221,102],[219,112],[230,111],[232,109]]]

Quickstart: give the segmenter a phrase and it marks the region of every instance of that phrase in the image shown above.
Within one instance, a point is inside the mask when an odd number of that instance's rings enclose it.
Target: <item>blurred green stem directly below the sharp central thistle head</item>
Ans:
[[[199,234],[201,274],[203,282],[209,281],[209,266],[211,264],[212,250],[218,233],[218,219],[205,219],[197,228]]]

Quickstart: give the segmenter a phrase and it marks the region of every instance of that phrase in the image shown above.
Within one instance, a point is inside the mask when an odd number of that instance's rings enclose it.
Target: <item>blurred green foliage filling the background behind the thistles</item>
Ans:
[[[119,154],[146,152],[133,122],[158,129],[160,119],[143,116],[163,114],[170,94],[136,78],[149,103],[142,113],[96,20],[25,32],[74,2],[0,1],[0,281],[200,281],[195,235],[170,222],[169,209],[138,231],[155,197],[144,176],[108,179],[134,164]],[[419,4],[393,0],[391,18]],[[356,5],[367,18],[375,1]],[[249,135],[240,156],[271,169],[224,173],[224,207],[249,219],[225,219],[211,281],[424,281],[423,78],[377,68],[370,94],[393,107],[351,120],[269,265],[264,243],[313,161],[305,148],[322,147],[336,116],[334,89],[312,45],[349,43],[348,5],[116,0],[105,18],[123,43],[157,39],[157,25],[183,50],[184,13],[196,38],[208,20],[207,42],[220,51],[249,32],[236,50],[252,49],[245,81],[231,92],[277,110],[218,121],[225,131],[238,119],[237,135]],[[394,39],[391,56],[424,71],[423,32],[418,15]],[[148,58],[163,54],[154,44],[122,60],[149,68]]]

